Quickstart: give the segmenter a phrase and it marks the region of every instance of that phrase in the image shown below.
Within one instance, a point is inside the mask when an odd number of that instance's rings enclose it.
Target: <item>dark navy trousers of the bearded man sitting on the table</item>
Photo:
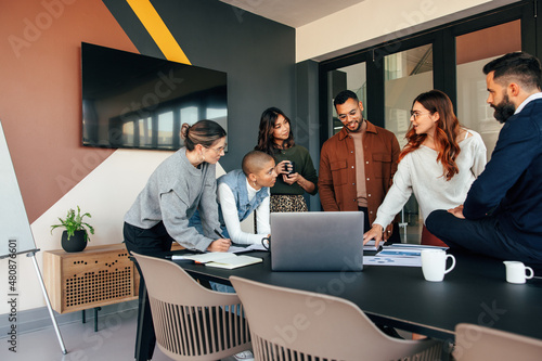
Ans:
[[[478,220],[462,219],[439,209],[427,217],[425,224],[429,232],[450,248],[529,265],[542,263],[542,252],[515,242],[514,238],[520,238],[521,235],[505,234],[495,217]]]

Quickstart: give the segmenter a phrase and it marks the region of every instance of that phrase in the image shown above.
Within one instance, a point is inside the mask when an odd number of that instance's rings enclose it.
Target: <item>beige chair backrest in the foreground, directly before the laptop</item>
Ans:
[[[389,337],[348,300],[237,276],[230,281],[246,311],[256,360],[440,359],[441,343]]]

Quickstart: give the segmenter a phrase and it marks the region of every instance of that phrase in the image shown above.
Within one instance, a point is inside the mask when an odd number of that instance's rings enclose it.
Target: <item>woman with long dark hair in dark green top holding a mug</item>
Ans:
[[[294,141],[288,117],[279,108],[270,107],[261,114],[258,145],[276,162],[276,183],[271,188],[271,211],[308,211],[305,192],[318,192],[318,176],[309,151]],[[291,172],[289,162],[294,163]]]

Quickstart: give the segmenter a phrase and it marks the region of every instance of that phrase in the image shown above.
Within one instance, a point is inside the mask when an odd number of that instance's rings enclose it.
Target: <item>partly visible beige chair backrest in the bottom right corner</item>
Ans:
[[[469,323],[455,326],[456,360],[542,360],[542,340]]]

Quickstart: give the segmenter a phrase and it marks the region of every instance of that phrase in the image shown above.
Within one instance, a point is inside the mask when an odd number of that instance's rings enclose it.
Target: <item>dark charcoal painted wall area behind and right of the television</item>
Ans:
[[[103,0],[138,50],[164,57],[126,2]],[[228,73],[228,149],[220,164],[241,168],[269,106],[295,118],[295,29],[217,0],[152,4],[193,65]]]

